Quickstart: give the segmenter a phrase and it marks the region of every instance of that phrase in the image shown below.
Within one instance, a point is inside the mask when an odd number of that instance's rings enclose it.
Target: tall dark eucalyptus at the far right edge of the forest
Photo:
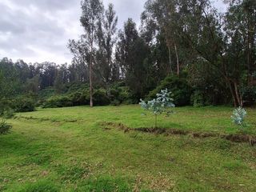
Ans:
[[[250,0],[230,2],[225,15],[226,57],[233,63],[234,96],[238,105],[243,105],[246,92],[256,86],[256,2]],[[248,94],[248,93],[247,93]],[[254,94],[256,95],[256,94]]]

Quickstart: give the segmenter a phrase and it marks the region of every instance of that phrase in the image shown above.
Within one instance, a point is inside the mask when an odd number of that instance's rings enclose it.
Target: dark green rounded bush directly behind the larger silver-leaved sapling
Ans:
[[[161,90],[168,89],[172,93],[175,106],[190,105],[191,87],[189,86],[186,78],[170,75],[166,77],[154,90],[150,91],[146,100],[151,100]]]

